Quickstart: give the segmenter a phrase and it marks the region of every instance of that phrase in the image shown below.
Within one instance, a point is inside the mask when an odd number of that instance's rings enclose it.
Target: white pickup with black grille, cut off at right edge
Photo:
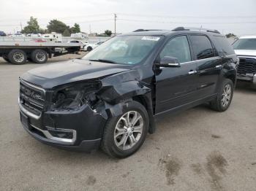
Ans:
[[[237,79],[256,84],[256,36],[242,36],[233,43],[238,55]]]

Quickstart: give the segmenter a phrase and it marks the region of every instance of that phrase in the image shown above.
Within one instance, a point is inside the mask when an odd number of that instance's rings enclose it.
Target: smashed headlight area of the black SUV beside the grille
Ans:
[[[83,104],[94,104],[98,100],[95,93],[101,87],[101,82],[83,82],[66,85],[53,93],[51,110],[74,110]]]

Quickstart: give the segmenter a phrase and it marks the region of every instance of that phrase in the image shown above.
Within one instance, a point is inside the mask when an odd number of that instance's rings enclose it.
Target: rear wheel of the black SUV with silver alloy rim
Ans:
[[[230,79],[225,79],[219,89],[217,98],[210,102],[211,109],[217,112],[225,112],[231,104],[234,86]]]

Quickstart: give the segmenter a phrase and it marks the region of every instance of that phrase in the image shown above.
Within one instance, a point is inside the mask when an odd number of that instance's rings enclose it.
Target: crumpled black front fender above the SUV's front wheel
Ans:
[[[150,120],[149,133],[155,130],[151,87],[140,81],[138,71],[126,71],[105,79],[101,79],[102,88],[97,92],[97,96],[102,101],[102,105],[97,108],[105,118],[119,116],[124,113],[127,102],[143,97],[143,104],[148,111]],[[138,101],[138,99],[135,99]]]

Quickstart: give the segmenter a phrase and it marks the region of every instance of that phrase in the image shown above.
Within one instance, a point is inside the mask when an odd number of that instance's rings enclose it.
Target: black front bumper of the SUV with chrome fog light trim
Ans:
[[[35,139],[64,149],[99,148],[106,120],[89,106],[75,111],[42,112],[38,116],[18,102],[23,128]]]

